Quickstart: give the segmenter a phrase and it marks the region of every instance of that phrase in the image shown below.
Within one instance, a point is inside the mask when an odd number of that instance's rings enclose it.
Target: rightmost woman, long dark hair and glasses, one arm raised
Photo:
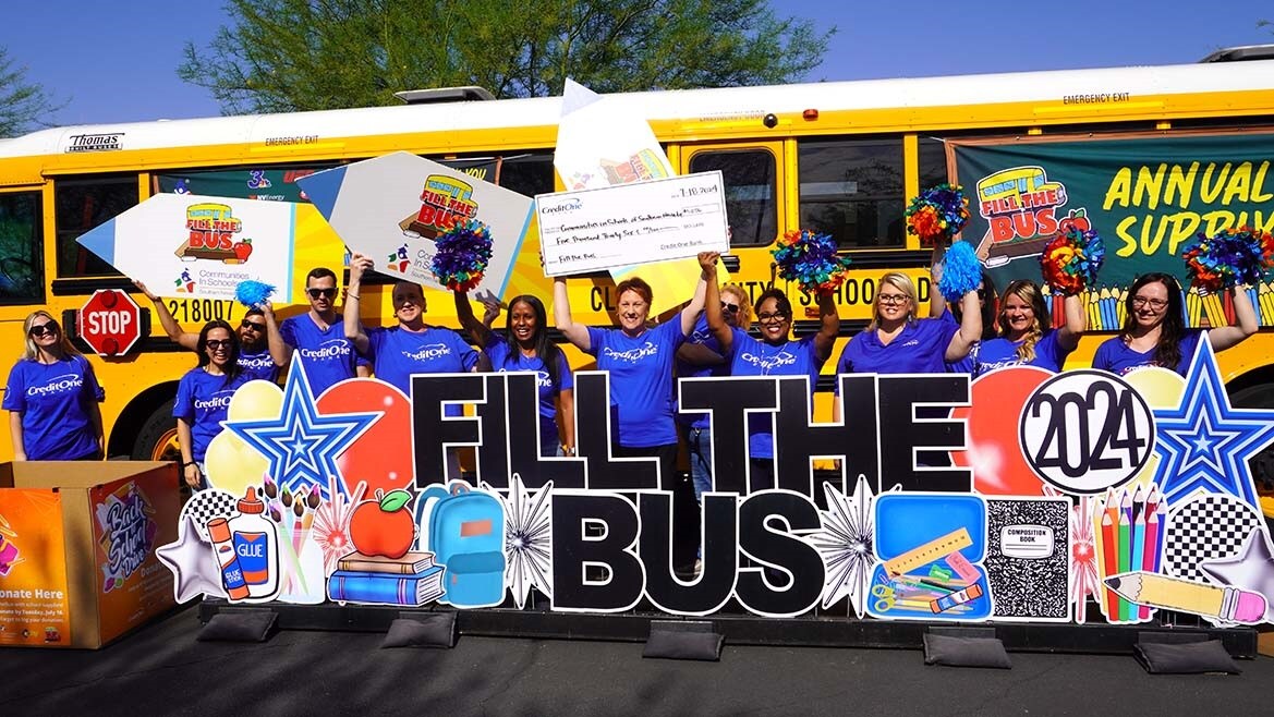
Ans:
[[[1260,327],[1247,290],[1227,289],[1235,304],[1235,322],[1214,329],[1186,329],[1181,285],[1171,274],[1143,274],[1127,289],[1127,317],[1119,335],[1097,346],[1093,368],[1126,374],[1159,366],[1185,376],[1199,341],[1214,351],[1235,346]]]

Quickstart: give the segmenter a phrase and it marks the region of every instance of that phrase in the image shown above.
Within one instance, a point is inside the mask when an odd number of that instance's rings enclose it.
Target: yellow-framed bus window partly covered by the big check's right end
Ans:
[[[730,246],[766,246],[778,236],[775,164],[768,149],[713,149],[691,157],[692,173],[721,171]]]

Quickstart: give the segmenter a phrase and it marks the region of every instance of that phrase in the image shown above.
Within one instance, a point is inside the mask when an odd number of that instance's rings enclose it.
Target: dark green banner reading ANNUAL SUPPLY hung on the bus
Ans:
[[[972,214],[963,237],[998,287],[1040,281],[1040,253],[1059,231],[1078,225],[1102,237],[1106,265],[1085,297],[1094,330],[1119,329],[1119,303],[1136,275],[1164,271],[1185,284],[1181,251],[1196,234],[1274,232],[1274,134],[953,145]],[[1274,285],[1251,295],[1261,323],[1274,323]],[[1220,297],[1186,299],[1190,325],[1228,323]]]

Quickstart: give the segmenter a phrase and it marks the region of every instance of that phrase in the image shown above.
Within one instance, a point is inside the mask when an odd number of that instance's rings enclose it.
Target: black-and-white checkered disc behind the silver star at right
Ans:
[[[1199,564],[1235,557],[1260,523],[1256,511],[1233,495],[1196,493],[1168,511],[1163,565],[1182,578],[1210,582]]]

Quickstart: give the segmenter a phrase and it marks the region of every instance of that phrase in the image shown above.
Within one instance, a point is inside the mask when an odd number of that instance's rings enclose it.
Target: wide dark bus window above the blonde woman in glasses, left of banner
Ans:
[[[800,140],[800,228],[842,248],[901,247],[902,139]]]

